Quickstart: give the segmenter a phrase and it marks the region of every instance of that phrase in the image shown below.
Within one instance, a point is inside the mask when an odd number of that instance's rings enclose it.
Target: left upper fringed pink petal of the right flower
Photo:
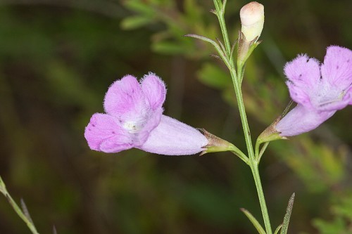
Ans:
[[[301,55],[287,63],[284,74],[288,81],[291,98],[301,105],[310,108],[310,93],[314,92],[320,83],[320,67],[318,60]]]

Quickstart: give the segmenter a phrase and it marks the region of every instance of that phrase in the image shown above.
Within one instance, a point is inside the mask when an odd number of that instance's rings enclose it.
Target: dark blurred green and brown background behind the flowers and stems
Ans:
[[[232,41],[239,9],[228,0]],[[351,48],[348,0],[268,0],[263,43],[246,66],[253,141],[289,102],[282,67],[298,53],[322,60]],[[213,1],[0,0],[0,175],[25,200],[39,233],[255,233],[251,171],[230,153],[166,157],[89,150],[84,127],[125,74],[165,80],[165,114],[245,150],[230,77],[213,48]],[[352,233],[352,108],[310,134],[270,143],[260,165],[272,226],[291,193],[289,233]],[[0,233],[30,233],[0,197]]]

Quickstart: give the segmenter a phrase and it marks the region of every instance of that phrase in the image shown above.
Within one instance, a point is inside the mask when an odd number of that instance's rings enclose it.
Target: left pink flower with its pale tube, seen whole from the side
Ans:
[[[96,113],[84,131],[92,150],[120,152],[139,148],[161,155],[192,155],[208,143],[203,134],[187,124],[163,115],[166,89],[155,74],[141,84],[127,75],[106,92],[106,114]]]

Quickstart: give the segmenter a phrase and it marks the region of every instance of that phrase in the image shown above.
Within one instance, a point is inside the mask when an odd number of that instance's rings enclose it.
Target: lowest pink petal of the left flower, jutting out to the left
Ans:
[[[89,148],[103,152],[120,152],[133,147],[132,136],[111,115],[96,113],[84,131]]]

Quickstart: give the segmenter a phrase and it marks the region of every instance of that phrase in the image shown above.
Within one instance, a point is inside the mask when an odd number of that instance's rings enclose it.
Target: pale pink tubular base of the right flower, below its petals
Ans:
[[[296,136],[316,129],[335,112],[336,110],[317,112],[298,104],[277,123],[275,129],[280,136]]]

